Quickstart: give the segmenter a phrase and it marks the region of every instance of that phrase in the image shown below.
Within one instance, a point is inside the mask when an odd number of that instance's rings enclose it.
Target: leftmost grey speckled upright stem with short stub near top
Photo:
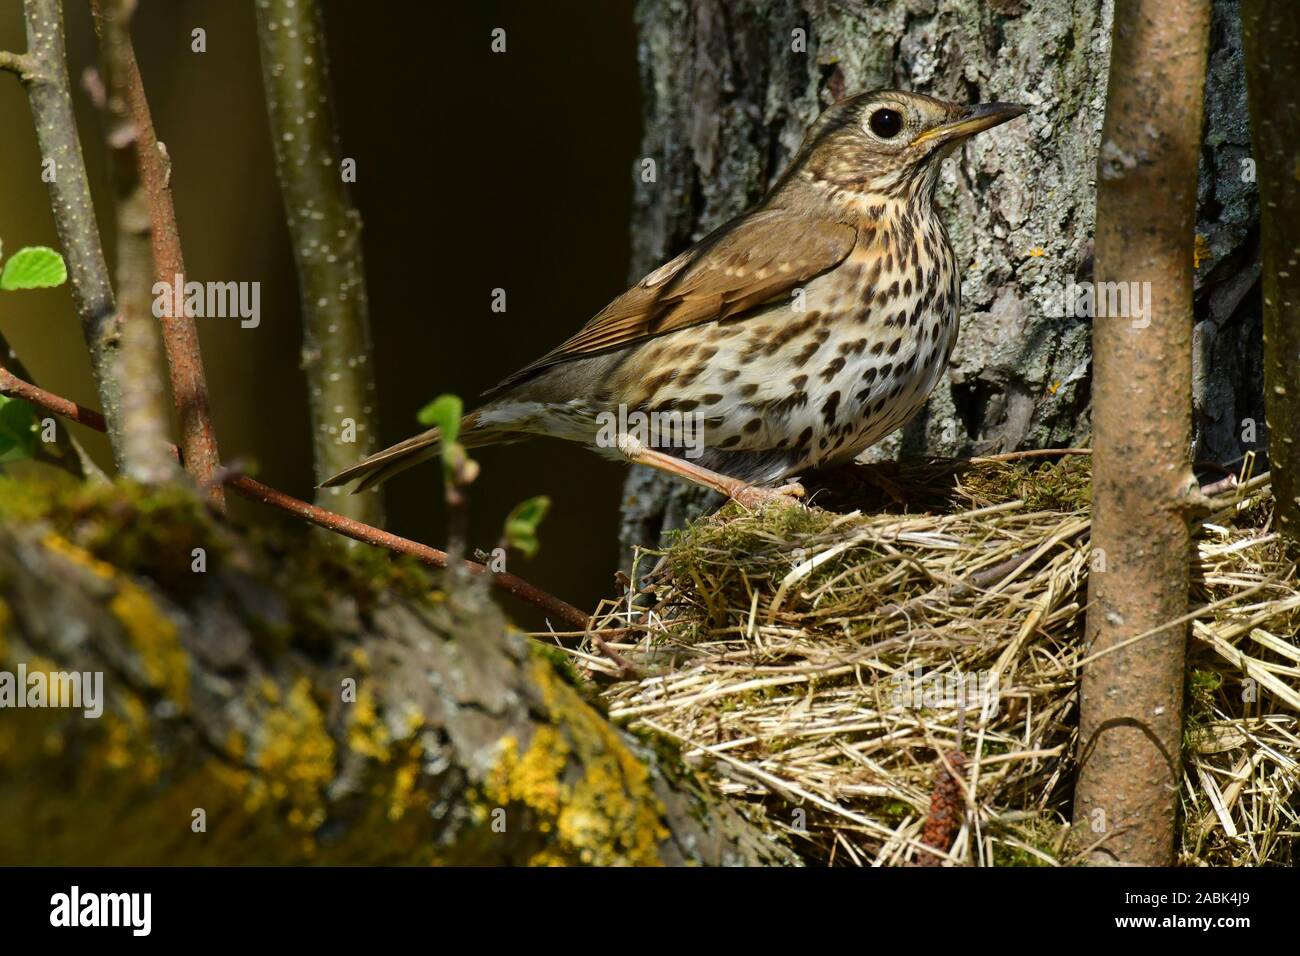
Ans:
[[[64,16],[58,0],[25,0],[26,53],[0,53],[0,68],[17,74],[27,91],[40,157],[47,166],[49,206],[68,261],[69,285],[82,336],[90,349],[91,373],[108,419],[113,458],[126,470],[122,393],[114,359],[121,345],[121,317],[113,302],[104,250],[95,222],[95,204],[86,179],[77,117],[73,114],[64,53]]]

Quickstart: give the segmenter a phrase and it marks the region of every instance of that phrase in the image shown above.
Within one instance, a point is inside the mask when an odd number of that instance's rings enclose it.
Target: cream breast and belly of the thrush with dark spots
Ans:
[[[881,216],[836,268],[737,321],[642,346],[629,407],[698,416],[710,449],[852,458],[924,403],[956,341],[957,267],[933,213]]]

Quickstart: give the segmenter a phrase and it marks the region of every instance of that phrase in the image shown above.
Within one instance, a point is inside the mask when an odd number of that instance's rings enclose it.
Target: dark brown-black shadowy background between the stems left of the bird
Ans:
[[[364,222],[380,433],[419,431],[442,392],[465,398],[526,364],[627,286],[640,146],[632,4],[326,0],[326,34],[352,199]],[[81,86],[98,61],[88,4],[66,4],[68,60],[100,232],[113,255],[103,127]],[[507,52],[490,52],[490,31]],[[191,52],[190,31],[207,31]],[[261,324],[200,319],[222,458],[312,497],[292,252],[272,163],[252,0],[143,0],[133,34],[159,137],[173,161],[188,277],[261,282]],[[26,46],[20,0],[0,0],[0,48]],[[0,241],[57,247],[21,85],[0,75]],[[495,287],[506,313],[490,311]],[[96,406],[65,287],[0,297],[0,329],[43,386]],[[78,434],[105,467],[107,442]],[[511,570],[578,606],[611,592],[624,468],[567,442],[474,453],[472,544],[495,545],[508,510],[549,494],[542,550]],[[441,545],[434,467],[386,486],[387,527]],[[238,520],[280,518],[238,502]],[[511,609],[523,623],[538,623]]]

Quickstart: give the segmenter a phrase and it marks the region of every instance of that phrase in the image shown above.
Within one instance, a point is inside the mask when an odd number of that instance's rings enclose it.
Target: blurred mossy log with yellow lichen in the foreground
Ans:
[[[103,672],[98,718],[0,709],[0,864],[796,862],[473,583],[179,492],[0,512],[0,672]]]

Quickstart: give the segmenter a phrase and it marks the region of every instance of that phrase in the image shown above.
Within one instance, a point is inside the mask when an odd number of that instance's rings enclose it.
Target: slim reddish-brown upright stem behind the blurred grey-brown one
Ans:
[[[181,423],[185,467],[194,483],[204,489],[209,501],[220,510],[225,507],[225,494],[221,483],[212,479],[221,464],[221,458],[208,406],[208,382],[203,372],[203,355],[199,351],[199,330],[194,324],[194,316],[187,315],[185,308],[185,256],[181,252],[181,234],[177,230],[176,207],[172,203],[172,161],[153,129],[153,116],[144,96],[144,82],[140,79],[135,51],[126,30],[125,5],[91,0],[91,9],[95,14],[95,30],[104,47],[104,60],[116,61],[121,69],[121,77],[114,82],[126,98],[125,108],[134,125],[140,185],[144,187],[150,211],[153,277],[156,282],[165,282],[173,290],[172,307],[164,310],[159,321],[162,326],[162,343],[172,375],[172,397]]]

